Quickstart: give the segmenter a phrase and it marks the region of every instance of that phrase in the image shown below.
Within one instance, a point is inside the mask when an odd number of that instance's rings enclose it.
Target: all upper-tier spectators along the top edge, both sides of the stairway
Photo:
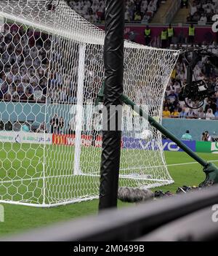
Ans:
[[[158,10],[160,0],[126,0],[125,20],[130,23],[149,23]],[[68,0],[69,6],[91,23],[105,21],[104,0]],[[212,23],[217,0],[182,0],[181,7],[190,8],[187,23]]]

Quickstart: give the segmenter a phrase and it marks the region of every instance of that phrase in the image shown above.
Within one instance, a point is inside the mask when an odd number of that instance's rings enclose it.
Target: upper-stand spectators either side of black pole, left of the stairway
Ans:
[[[126,0],[126,22],[148,23],[159,7],[160,0]],[[105,20],[104,0],[68,0],[69,6],[91,23]]]

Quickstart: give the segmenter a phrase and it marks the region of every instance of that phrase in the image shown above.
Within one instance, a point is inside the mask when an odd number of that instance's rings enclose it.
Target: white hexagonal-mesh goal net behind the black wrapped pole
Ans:
[[[1,0],[0,9],[0,202],[97,198],[104,31],[64,0]],[[177,51],[126,41],[124,52],[124,93],[161,123]],[[172,183],[161,133],[129,106],[123,112],[120,186]]]

